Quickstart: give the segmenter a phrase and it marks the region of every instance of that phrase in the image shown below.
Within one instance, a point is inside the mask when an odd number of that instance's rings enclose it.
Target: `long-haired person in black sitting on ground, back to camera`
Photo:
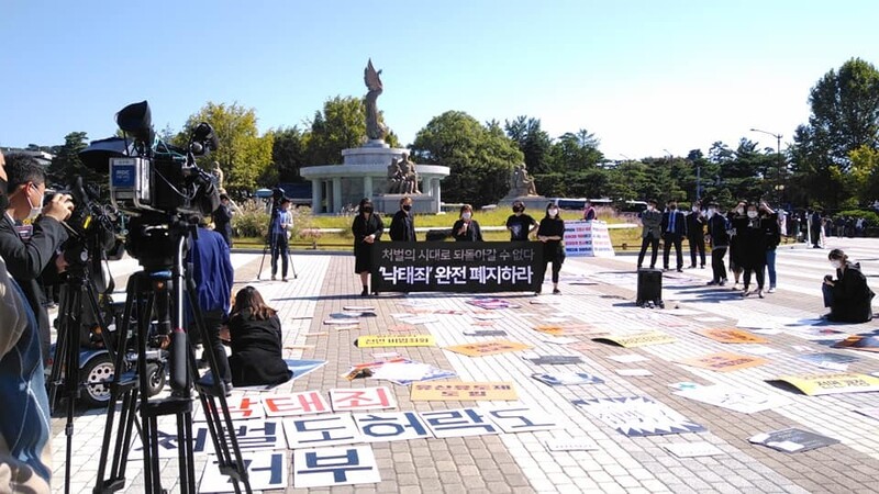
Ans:
[[[283,361],[281,321],[253,287],[245,287],[235,294],[235,305],[229,317],[229,338],[232,347],[229,366],[234,385],[274,385],[290,380],[290,370]]]

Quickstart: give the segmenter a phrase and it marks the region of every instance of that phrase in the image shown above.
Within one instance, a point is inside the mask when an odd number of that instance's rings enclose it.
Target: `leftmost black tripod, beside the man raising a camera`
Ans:
[[[62,288],[60,304],[58,311],[58,339],[55,344],[55,356],[53,358],[54,364],[52,366],[52,374],[49,375],[49,407],[54,411],[58,400],[58,393],[63,389],[63,395],[67,400],[67,422],[65,423],[64,433],[67,436],[67,451],[65,456],[64,469],[64,492],[70,492],[70,460],[73,454],[73,440],[74,440],[74,415],[76,413],[76,402],[80,397],[82,386],[79,382],[79,335],[82,329],[84,313],[84,297],[88,302],[91,314],[94,316],[94,323],[98,324],[100,336],[103,341],[104,348],[110,353],[111,360],[115,359],[115,351],[111,338],[109,337],[108,326],[101,315],[101,310],[98,304],[97,289],[92,280],[87,261],[80,261],[80,256],[71,255],[73,248],[65,250],[65,256],[68,259],[75,260],[68,267],[67,280]],[[85,249],[79,249],[80,254],[87,254]],[[91,323],[91,321],[89,322]],[[124,352],[123,352],[124,353]],[[119,369],[119,368],[116,368]],[[113,368],[107,367],[104,369],[107,380],[110,379],[110,373]],[[87,386],[108,386],[109,382],[89,382]],[[93,389],[92,389],[93,391]]]

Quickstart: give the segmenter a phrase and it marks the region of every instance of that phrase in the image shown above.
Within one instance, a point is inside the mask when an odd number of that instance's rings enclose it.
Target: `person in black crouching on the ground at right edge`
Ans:
[[[821,291],[824,306],[831,312],[823,318],[836,323],[866,323],[872,319],[872,297],[876,293],[867,285],[867,277],[860,266],[848,260],[842,249],[833,249],[827,255],[831,266],[836,269],[836,279],[827,274]]]

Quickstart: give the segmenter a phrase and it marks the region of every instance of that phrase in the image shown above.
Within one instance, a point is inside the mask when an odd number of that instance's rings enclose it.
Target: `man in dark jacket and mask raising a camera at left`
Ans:
[[[9,205],[0,221],[0,256],[7,261],[12,278],[21,285],[40,327],[43,361],[49,358],[48,311],[43,306],[43,295],[37,279],[41,273],[51,279],[65,269],[64,256],[58,248],[67,239],[60,222],[74,210],[69,195],[56,194],[43,206],[46,173],[32,157],[13,155],[7,160]],[[15,222],[35,218],[29,234],[19,234]],[[26,237],[26,238],[25,238]]]

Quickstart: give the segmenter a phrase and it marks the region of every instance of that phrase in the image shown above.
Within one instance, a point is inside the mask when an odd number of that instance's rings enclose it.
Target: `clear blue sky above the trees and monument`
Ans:
[[[686,155],[741,137],[775,147],[809,90],[852,57],[879,64],[875,1],[24,1],[0,10],[0,146],[112,135],[149,100],[157,128],[205,102],[254,108],[260,131],[307,125],[365,93],[411,143],[448,110],[587,128],[610,159]]]

